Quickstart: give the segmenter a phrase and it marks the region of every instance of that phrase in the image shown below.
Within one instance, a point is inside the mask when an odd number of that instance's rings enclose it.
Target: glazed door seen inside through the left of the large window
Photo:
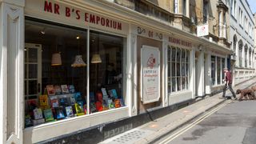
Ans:
[[[42,94],[42,45],[25,44],[25,100],[36,99]]]

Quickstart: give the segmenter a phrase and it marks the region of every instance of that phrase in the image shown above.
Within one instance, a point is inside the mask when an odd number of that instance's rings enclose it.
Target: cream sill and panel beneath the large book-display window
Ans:
[[[24,143],[42,142],[50,138],[62,136],[63,134],[74,133],[78,130],[85,130],[106,122],[113,122],[121,118],[129,117],[128,106],[113,110],[82,115],[68,118],[57,122],[44,123],[39,126],[31,126],[24,129]]]

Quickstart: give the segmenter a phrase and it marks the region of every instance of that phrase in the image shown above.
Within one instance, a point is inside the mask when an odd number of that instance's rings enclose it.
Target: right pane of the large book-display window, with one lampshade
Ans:
[[[90,31],[90,102],[95,112],[123,102],[123,42],[122,37]]]

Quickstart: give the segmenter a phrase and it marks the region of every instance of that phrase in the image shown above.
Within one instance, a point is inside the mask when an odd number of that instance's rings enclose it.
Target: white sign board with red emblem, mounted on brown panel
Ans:
[[[143,104],[160,98],[160,51],[158,47],[142,46],[141,93]]]

